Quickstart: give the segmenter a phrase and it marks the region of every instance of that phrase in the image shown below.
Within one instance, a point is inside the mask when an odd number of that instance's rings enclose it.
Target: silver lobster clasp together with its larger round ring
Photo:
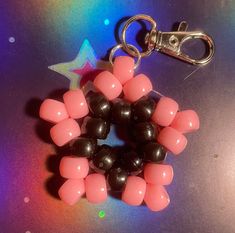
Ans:
[[[126,32],[131,23],[138,20],[146,20],[152,25],[151,31],[147,33],[145,37],[147,49],[140,53],[141,57],[148,56],[156,50],[194,65],[204,65],[211,61],[215,52],[215,45],[210,36],[201,31],[187,31],[188,24],[185,21],[180,23],[178,31],[161,32],[157,30],[157,24],[154,19],[148,15],[133,16],[127,20],[124,25],[122,30],[122,44],[124,50],[130,55],[138,56],[137,53],[127,45]],[[208,54],[202,59],[194,59],[181,51],[183,43],[192,39],[201,39],[205,42]]]

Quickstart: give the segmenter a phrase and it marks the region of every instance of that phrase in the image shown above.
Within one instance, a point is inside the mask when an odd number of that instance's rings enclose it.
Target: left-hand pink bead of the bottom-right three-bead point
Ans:
[[[144,200],[146,182],[138,176],[129,176],[122,193],[122,200],[128,205],[138,206]]]

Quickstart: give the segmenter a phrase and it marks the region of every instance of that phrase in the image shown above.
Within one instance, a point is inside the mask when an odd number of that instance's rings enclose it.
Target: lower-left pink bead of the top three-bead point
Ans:
[[[108,100],[113,100],[122,93],[120,81],[109,71],[103,71],[98,74],[93,84]]]

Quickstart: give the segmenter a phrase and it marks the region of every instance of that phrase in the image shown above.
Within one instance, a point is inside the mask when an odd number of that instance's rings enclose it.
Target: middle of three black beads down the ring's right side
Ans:
[[[156,140],[157,129],[151,122],[141,122],[133,125],[132,136],[137,142]]]

